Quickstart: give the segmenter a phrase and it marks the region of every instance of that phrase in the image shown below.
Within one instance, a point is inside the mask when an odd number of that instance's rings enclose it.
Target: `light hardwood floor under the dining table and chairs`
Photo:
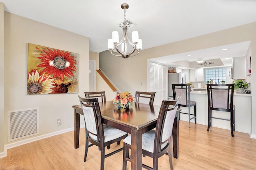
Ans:
[[[113,149],[122,147],[113,144]],[[0,170],[98,170],[100,151],[90,147],[84,162],[85,134],[80,131],[80,145],[74,149],[74,132],[42,139],[8,149],[0,159]],[[122,151],[105,159],[105,170],[122,169]],[[152,159],[142,158],[152,166]],[[256,169],[256,139],[248,134],[180,121],[179,158],[173,158],[174,170],[252,170]],[[128,162],[127,170],[130,170]],[[143,169],[143,168],[142,168]],[[159,158],[159,170],[169,170],[168,156]]]

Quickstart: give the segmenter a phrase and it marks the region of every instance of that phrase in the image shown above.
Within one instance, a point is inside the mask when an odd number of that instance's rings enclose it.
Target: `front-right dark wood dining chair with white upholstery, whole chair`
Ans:
[[[170,168],[173,169],[171,136],[179,100],[180,98],[172,101],[163,100],[158,114],[156,130],[142,134],[142,154],[153,158],[153,168],[142,163],[143,168],[157,170],[158,158],[168,152]],[[126,170],[127,161],[131,162],[129,149],[131,149],[131,135],[124,139],[123,170]]]

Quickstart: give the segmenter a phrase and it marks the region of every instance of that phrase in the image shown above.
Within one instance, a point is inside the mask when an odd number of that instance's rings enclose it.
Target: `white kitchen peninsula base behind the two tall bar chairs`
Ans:
[[[251,94],[234,94],[235,107],[235,131],[244,133],[251,132]],[[190,100],[196,102],[196,123],[208,125],[208,98],[207,92],[192,91],[190,92]],[[192,108],[192,107],[191,107]],[[187,107],[181,107],[182,111],[188,113]],[[193,108],[192,108],[192,113]],[[229,112],[212,111],[212,115],[218,117],[230,118]],[[188,115],[180,114],[180,120],[188,121]],[[194,119],[191,120],[194,122]],[[230,129],[230,121],[212,119],[213,127]],[[206,127],[207,130],[207,127]]]

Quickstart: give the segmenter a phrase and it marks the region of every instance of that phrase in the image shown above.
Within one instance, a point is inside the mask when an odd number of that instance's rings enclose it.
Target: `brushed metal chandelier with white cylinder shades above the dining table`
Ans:
[[[133,31],[132,42],[129,40],[127,29],[133,24],[131,21],[126,20],[125,18],[125,12],[126,9],[129,8],[129,5],[122,4],[121,8],[124,10],[124,22],[120,23],[119,26],[123,29],[123,35],[121,40],[119,41],[118,31],[113,31],[112,39],[108,39],[108,49],[110,50],[110,53],[112,55],[127,59],[128,57],[135,56],[140,53],[140,50],[142,49],[142,40],[139,39],[138,31]],[[114,54],[114,50],[120,55]]]

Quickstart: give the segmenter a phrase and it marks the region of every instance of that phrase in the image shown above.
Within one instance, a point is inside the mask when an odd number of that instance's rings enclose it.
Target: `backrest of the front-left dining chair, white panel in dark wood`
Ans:
[[[98,143],[102,140],[104,141],[103,123],[98,98],[86,99],[80,96],[78,96],[78,98],[84,113],[87,136],[94,141],[97,138]],[[92,135],[94,135],[94,137],[92,137]]]

